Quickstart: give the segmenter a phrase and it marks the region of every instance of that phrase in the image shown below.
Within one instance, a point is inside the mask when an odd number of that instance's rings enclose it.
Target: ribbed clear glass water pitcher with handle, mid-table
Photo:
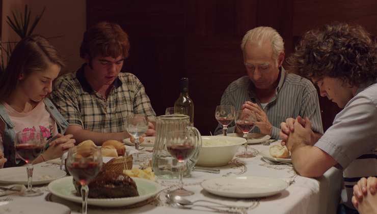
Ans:
[[[199,131],[190,127],[190,116],[171,114],[161,115],[156,118],[156,139],[153,147],[152,165],[154,174],[162,178],[178,178],[178,161],[174,159],[167,147],[167,134],[174,131],[190,131],[198,140],[193,157],[186,161],[183,176],[190,175],[191,170],[199,159],[200,150],[202,148],[202,137]]]

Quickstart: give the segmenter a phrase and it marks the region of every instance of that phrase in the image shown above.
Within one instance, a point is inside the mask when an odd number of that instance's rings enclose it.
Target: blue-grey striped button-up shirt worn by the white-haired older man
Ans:
[[[295,74],[285,74],[281,67],[279,85],[276,87],[276,95],[267,103],[264,111],[272,124],[271,138],[281,139],[279,136],[280,124],[287,118],[297,116],[308,117],[312,121],[312,130],[317,133],[324,133],[319,110],[317,90],[314,85],[305,78]],[[220,105],[232,105],[239,110],[246,101],[258,104],[262,108],[260,101],[252,89],[253,83],[248,76],[241,77],[232,82],[224,91]],[[233,133],[235,129],[234,121],[228,126],[228,133]],[[223,126],[218,125],[215,134],[223,132]],[[255,127],[251,133],[260,133]]]

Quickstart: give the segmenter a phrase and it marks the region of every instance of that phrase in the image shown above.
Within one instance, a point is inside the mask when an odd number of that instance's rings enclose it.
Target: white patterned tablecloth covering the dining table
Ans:
[[[243,154],[244,146],[239,146],[234,158],[225,166],[208,167],[208,169],[219,169],[220,173],[208,173],[201,171],[192,171],[189,176],[183,178],[183,185],[186,190],[193,191],[194,194],[186,196],[191,201],[209,200],[221,204],[234,205],[236,208],[220,209],[224,213],[336,213],[336,208],[340,203],[340,192],[342,184],[342,171],[332,167],[324,175],[318,178],[307,178],[300,176],[291,164],[270,164],[262,159],[261,152],[270,148],[272,145],[280,144],[280,140],[268,140],[270,145],[262,143],[249,144],[249,158],[238,158],[237,155]],[[143,149],[139,157],[148,161],[152,159],[152,152],[149,149]],[[34,165],[34,167],[60,168],[60,165],[52,162],[43,162]],[[64,167],[64,166],[63,166]],[[140,167],[140,163],[133,163],[133,167]],[[25,171],[26,173],[26,171]],[[289,185],[286,189],[278,194],[267,197],[256,198],[234,198],[214,195],[207,192],[201,186],[205,180],[212,178],[227,177],[229,179],[240,176],[258,176],[277,178],[287,182]],[[88,205],[88,213],[213,213],[214,210],[202,206],[188,206],[185,208],[177,207],[168,203],[166,195],[169,191],[178,187],[178,179],[161,178],[155,181],[161,189],[152,197],[145,201],[116,207],[101,207]],[[60,198],[52,194],[48,189],[48,184],[34,185],[34,189],[43,192],[43,195],[36,197],[21,197],[17,194],[0,197],[0,201],[5,198],[12,202],[55,202],[63,204],[71,209],[71,213],[81,213],[82,205],[70,200]],[[90,190],[89,190],[90,191]],[[198,202],[199,203],[199,202]],[[197,204],[197,203],[195,203]],[[202,202],[202,205],[213,205]],[[237,208],[240,207],[240,208]],[[2,206],[0,203],[0,213]]]

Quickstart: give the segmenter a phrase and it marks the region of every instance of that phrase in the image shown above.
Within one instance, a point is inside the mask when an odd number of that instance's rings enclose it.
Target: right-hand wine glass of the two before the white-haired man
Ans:
[[[244,155],[237,157],[249,158],[251,156],[248,155],[248,133],[254,129],[257,123],[257,115],[255,111],[244,109],[243,111],[236,111],[234,120],[236,127],[244,133],[244,138],[246,139]]]

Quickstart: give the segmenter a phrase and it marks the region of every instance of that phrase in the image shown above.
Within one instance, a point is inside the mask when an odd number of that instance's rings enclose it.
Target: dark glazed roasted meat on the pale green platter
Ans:
[[[73,179],[77,195],[81,196],[81,185]],[[126,198],[139,196],[138,188],[129,176],[115,171],[101,171],[88,185],[88,198]]]

